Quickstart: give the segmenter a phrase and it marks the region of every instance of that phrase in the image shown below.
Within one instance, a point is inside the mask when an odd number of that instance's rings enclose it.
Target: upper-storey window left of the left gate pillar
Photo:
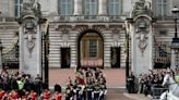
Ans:
[[[19,17],[20,16],[20,14],[21,14],[21,9],[22,9],[22,5],[23,5],[23,0],[15,0],[15,2],[14,2],[15,4],[15,11],[14,11],[14,15],[15,15],[15,17]]]

